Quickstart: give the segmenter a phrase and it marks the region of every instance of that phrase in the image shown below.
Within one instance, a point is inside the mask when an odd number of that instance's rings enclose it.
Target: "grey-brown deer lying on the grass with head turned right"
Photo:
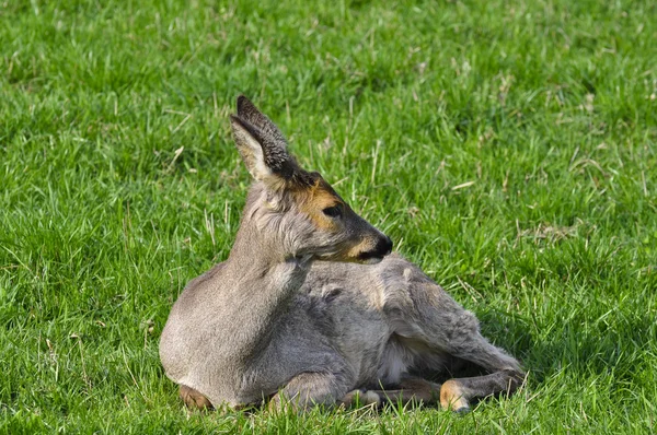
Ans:
[[[270,399],[297,409],[382,400],[469,401],[511,392],[518,362],[473,314],[400,255],[333,190],[301,169],[278,128],[244,96],[231,116],[253,176],[228,260],[194,279],[160,341],[188,407]],[[487,374],[425,379],[469,362]]]

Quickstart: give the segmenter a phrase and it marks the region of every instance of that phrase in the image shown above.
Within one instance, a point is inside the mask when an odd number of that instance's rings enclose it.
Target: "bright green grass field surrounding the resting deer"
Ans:
[[[0,3],[0,432],[655,431],[656,3]],[[522,360],[521,391],[187,415],[158,340],[239,225],[240,93]]]

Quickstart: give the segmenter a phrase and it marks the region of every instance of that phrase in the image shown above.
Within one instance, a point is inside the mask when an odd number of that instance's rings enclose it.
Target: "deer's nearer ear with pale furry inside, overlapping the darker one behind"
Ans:
[[[230,125],[238,151],[254,179],[275,184],[293,177],[297,164],[277,140],[240,116],[231,115]]]

